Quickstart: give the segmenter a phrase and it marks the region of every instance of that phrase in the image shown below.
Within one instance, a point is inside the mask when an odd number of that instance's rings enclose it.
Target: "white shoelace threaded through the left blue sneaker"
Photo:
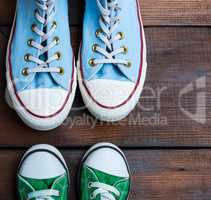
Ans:
[[[54,46],[56,46],[59,42],[59,38],[55,37],[53,41],[48,44],[47,46],[42,45],[44,42],[48,40],[50,36],[53,35],[53,33],[56,30],[56,22],[53,21],[54,15],[55,15],[55,0],[36,0],[37,9],[35,10],[35,18],[36,20],[42,25],[43,30],[46,29],[46,31],[40,30],[35,24],[32,25],[32,30],[41,37],[42,42],[37,43],[34,40],[29,40],[28,44],[31,47],[34,47],[40,51],[40,56],[47,53],[50,49],[52,49]],[[47,30],[47,25],[52,23],[51,28]],[[26,60],[36,63],[38,66],[32,69],[27,68],[27,73],[41,73],[41,72],[55,72],[60,73],[61,68],[59,67],[48,67],[48,64],[51,62],[58,60],[60,58],[60,54],[56,53],[50,58],[48,58],[46,61],[41,60],[40,58],[37,58],[33,55],[27,54]]]

